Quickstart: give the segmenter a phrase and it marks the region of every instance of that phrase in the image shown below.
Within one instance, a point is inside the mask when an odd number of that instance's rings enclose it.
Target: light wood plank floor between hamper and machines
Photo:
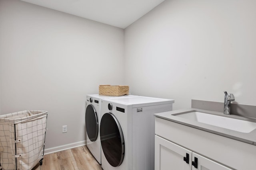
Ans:
[[[86,146],[44,155],[32,170],[102,170]]]

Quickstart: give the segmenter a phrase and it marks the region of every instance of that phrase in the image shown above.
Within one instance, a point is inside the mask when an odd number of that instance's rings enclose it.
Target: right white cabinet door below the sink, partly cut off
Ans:
[[[192,153],[192,161],[192,170],[232,170],[194,152]],[[194,166],[195,164],[197,168]]]

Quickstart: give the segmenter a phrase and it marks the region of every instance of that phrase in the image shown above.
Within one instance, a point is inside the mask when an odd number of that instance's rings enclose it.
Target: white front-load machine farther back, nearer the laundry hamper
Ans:
[[[120,96],[122,98],[135,95]],[[86,95],[86,145],[94,158],[101,164],[100,144],[100,103],[102,98],[119,98],[114,96],[100,96],[98,94]]]

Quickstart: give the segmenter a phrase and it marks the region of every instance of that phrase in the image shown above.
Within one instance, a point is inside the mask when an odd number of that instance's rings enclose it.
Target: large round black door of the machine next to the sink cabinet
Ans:
[[[112,113],[105,113],[100,121],[100,142],[108,163],[114,167],[124,160],[124,135]]]

